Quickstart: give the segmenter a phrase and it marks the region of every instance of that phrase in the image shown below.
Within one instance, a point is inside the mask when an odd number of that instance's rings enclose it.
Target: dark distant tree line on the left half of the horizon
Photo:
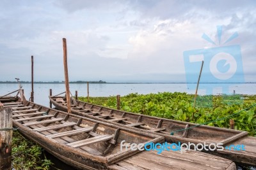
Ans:
[[[107,83],[106,81],[69,81],[69,83]],[[0,81],[0,83],[17,83],[17,81]],[[26,84],[31,83],[31,81],[20,81],[20,83]],[[65,81],[34,81],[35,84],[63,84]]]

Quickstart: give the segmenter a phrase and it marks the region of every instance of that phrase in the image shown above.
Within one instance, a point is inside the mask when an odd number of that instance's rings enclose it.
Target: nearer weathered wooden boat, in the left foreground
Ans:
[[[161,143],[164,138],[88,117],[68,114],[21,98],[3,100],[13,125],[47,152],[77,169],[236,169],[234,162],[207,153],[127,150],[120,143]],[[0,97],[1,98],[1,97]],[[2,98],[3,99],[3,98]],[[5,102],[6,101],[6,102]]]

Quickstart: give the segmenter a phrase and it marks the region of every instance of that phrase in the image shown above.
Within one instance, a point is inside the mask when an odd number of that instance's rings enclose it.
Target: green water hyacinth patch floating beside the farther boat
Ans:
[[[120,107],[124,111],[154,117],[170,118],[196,124],[209,122],[206,125],[215,127],[230,128],[229,121],[234,119],[235,129],[248,131],[250,136],[256,136],[256,106],[228,117],[255,104],[256,96],[198,96],[195,108],[193,108],[193,99],[193,95],[181,92],[159,92],[145,95],[133,93],[121,97]],[[79,100],[87,101],[87,98],[79,97]],[[90,103],[116,108],[116,97],[90,97]],[[193,113],[195,118],[191,120]],[[223,119],[218,120],[220,118]]]

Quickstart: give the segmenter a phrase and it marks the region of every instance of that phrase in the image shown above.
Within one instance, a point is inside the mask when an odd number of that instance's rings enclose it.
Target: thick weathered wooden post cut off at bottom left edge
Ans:
[[[4,108],[2,103],[0,129],[0,170],[7,170],[12,165],[12,108]]]

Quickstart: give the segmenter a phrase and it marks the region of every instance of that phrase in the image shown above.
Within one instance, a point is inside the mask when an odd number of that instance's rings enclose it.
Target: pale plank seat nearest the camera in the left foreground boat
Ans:
[[[104,134],[104,135],[100,135],[100,136],[96,136],[93,138],[88,138],[88,139],[83,139],[81,141],[76,141],[73,143],[68,143],[68,146],[72,146],[74,148],[80,147],[80,146],[85,146],[85,145],[89,145],[92,143],[98,143],[101,141],[108,141],[109,139],[112,139],[113,136],[109,135],[109,134]]]

